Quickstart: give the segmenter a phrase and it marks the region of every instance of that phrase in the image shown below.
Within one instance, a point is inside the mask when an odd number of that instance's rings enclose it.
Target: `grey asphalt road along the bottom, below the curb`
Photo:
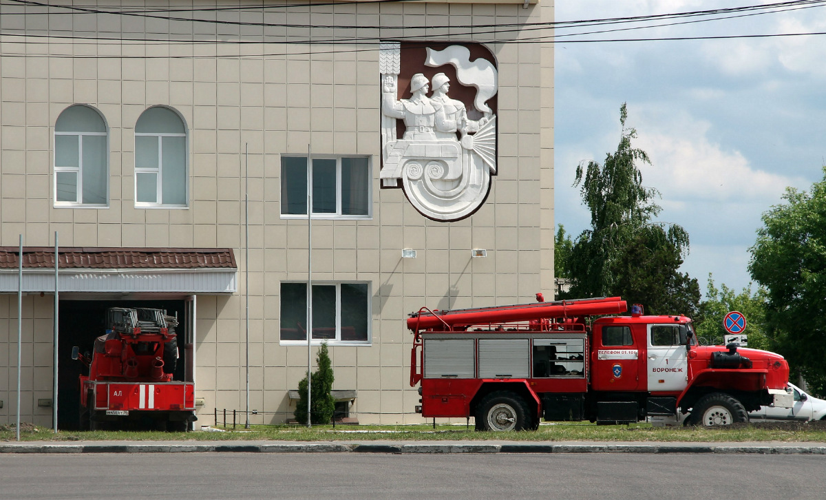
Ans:
[[[0,498],[823,498],[824,455],[3,454]]]

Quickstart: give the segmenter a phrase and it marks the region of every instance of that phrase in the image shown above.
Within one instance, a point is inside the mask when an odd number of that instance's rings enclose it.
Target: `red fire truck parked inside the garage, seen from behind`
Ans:
[[[197,420],[195,384],[173,380],[178,319],[161,309],[112,307],[107,325],[91,354],[72,351],[89,367],[80,376],[81,429],[187,430]]]

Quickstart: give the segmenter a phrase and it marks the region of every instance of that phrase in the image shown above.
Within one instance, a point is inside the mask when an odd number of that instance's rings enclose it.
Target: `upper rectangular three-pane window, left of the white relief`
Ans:
[[[306,156],[281,158],[281,215],[307,213]],[[366,157],[312,159],[312,216],[314,218],[370,217],[370,162]]]

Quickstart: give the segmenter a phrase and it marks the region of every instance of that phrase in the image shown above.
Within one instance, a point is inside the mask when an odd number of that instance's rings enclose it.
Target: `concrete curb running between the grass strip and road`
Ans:
[[[614,444],[439,444],[439,443],[83,443],[0,444],[0,453],[381,453],[391,455],[471,454],[560,454],[560,453],[646,453],[719,455],[826,455],[822,445],[713,445],[664,443],[644,445]]]

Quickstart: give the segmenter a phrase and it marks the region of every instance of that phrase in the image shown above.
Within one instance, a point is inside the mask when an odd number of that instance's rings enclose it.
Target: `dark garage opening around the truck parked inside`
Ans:
[[[59,303],[58,326],[58,428],[78,430],[80,428],[80,383],[81,373],[88,369],[79,360],[72,359],[72,348],[77,345],[81,353],[91,353],[94,340],[107,330],[107,309],[110,307],[147,307],[164,309],[169,316],[178,317],[178,364],[173,372],[173,380],[192,381],[193,336],[192,302],[181,299],[164,300],[61,300]]]

